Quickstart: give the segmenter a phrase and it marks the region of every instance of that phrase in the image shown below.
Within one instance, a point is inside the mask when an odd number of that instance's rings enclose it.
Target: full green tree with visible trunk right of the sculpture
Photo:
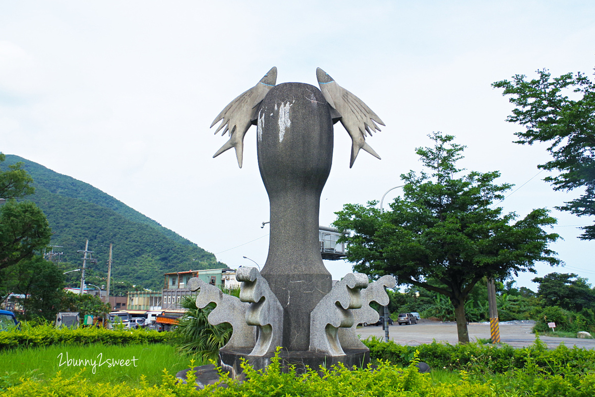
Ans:
[[[516,222],[514,213],[502,214],[492,202],[512,185],[496,185],[497,171],[456,177],[464,171],[456,161],[465,146],[453,143],[450,135],[434,133],[430,138],[433,148],[417,149],[430,173],[402,174],[404,198],[394,200],[392,211],[381,213],[375,201],[345,204],[336,212],[334,226],[352,230],[344,240],[355,270],[372,277],[393,274],[399,285],[446,296],[455,312],[459,342],[465,343],[465,301],[475,284],[484,277],[504,280],[534,272],[537,261],[559,264],[548,248],[559,236],[541,229],[556,223],[542,208]]]

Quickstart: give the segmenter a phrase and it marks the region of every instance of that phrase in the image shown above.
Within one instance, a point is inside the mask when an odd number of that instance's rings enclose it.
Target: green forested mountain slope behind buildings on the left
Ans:
[[[35,182],[35,194],[27,199],[48,218],[62,262],[80,266],[83,254],[77,251],[89,239],[90,274],[105,277],[112,243],[112,279],[157,290],[164,273],[226,267],[211,252],[88,183],[15,155],[7,154],[4,164],[19,161]]]

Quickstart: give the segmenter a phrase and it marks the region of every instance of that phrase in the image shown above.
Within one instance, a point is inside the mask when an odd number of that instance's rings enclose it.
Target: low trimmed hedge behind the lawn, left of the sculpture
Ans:
[[[0,332],[0,350],[36,348],[51,345],[130,345],[137,343],[164,343],[171,339],[170,332],[155,330],[108,330],[105,328],[60,328],[45,324],[36,327],[24,324],[21,330]]]

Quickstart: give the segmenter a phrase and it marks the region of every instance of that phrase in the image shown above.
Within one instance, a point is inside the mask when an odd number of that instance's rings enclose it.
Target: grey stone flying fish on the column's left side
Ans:
[[[241,93],[236,99],[231,101],[221,112],[215,117],[211,124],[211,128],[221,121],[219,127],[215,131],[217,134],[221,129],[221,135],[229,132],[229,140],[221,146],[221,148],[213,155],[217,157],[227,149],[235,148],[237,164],[242,168],[242,158],[244,151],[244,136],[250,128],[252,114],[254,108],[262,102],[267,93],[275,86],[277,82],[277,68],[272,67],[262,79],[250,88]],[[223,128],[225,127],[225,128]]]

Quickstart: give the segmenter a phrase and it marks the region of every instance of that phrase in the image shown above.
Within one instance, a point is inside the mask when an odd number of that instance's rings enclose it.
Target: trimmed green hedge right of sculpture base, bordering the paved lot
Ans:
[[[538,337],[533,345],[520,349],[509,345],[450,345],[436,341],[428,345],[403,346],[392,341],[385,343],[375,337],[364,340],[364,344],[370,349],[372,360],[387,360],[403,366],[409,364],[417,351],[419,360],[430,367],[453,371],[504,373],[515,368],[525,368],[528,364],[536,365],[550,374],[555,374],[561,367],[575,373],[595,370],[595,350],[576,346],[569,349],[564,345],[549,350]]]

